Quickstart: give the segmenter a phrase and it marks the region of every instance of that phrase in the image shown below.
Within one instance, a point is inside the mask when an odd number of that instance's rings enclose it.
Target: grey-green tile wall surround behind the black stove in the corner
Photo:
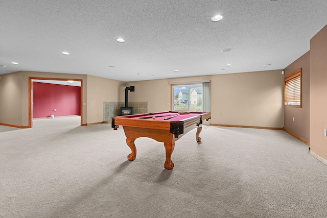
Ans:
[[[103,121],[111,122],[111,117],[119,116],[124,106],[125,102],[104,102]],[[133,114],[148,113],[148,102],[129,102],[128,107],[133,107]]]

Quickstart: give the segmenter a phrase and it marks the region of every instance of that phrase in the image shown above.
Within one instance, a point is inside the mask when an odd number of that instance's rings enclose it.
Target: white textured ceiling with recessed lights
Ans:
[[[224,19],[212,22],[216,14]],[[283,69],[326,24],[326,0],[0,0],[0,75],[138,81]]]

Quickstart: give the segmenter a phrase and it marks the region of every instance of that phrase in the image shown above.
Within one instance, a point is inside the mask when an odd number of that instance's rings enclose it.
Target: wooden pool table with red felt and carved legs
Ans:
[[[184,134],[197,128],[196,141],[201,142],[199,134],[202,130],[202,121],[211,118],[210,112],[177,112],[164,111],[157,113],[132,114],[116,116],[111,118],[111,127],[117,130],[123,126],[126,143],[132,153],[127,159],[132,161],[136,158],[136,147],[134,141],[139,137],[152,138],[164,142],[166,149],[165,168],[172,169],[174,163],[171,155],[174,151],[175,141]]]

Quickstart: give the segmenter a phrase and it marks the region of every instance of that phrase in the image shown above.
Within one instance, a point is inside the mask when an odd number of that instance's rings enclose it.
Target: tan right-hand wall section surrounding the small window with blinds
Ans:
[[[284,128],[293,134],[310,141],[310,52],[302,55],[285,68],[285,76],[301,68],[302,106],[284,107]],[[294,117],[294,121],[293,121]]]

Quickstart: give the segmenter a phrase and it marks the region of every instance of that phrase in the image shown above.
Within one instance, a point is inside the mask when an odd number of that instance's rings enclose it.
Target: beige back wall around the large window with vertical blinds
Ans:
[[[149,112],[171,110],[169,83],[201,80],[211,80],[211,124],[284,127],[282,70],[128,82],[135,86],[129,101],[149,102]]]

